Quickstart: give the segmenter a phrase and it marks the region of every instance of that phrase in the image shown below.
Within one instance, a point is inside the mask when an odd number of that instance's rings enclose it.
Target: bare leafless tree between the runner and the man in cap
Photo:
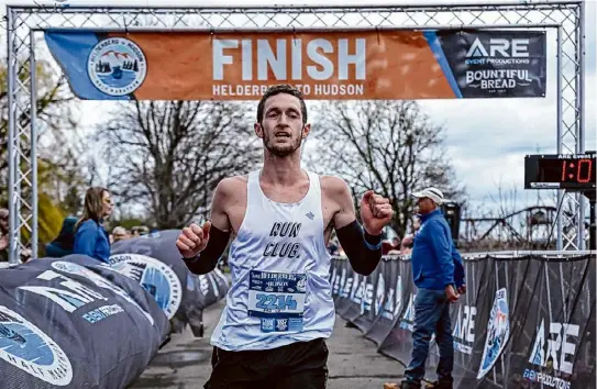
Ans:
[[[413,213],[414,190],[432,185],[447,198],[462,196],[445,158],[443,127],[416,101],[327,102],[312,134],[318,152],[311,168],[343,177],[355,200],[367,189],[389,198],[391,226],[400,236]]]

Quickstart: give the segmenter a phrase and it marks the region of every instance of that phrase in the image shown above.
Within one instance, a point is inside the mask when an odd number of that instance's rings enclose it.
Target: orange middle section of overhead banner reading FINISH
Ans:
[[[126,37],[147,58],[137,99],[258,99],[275,84],[311,99],[454,98],[421,33]]]

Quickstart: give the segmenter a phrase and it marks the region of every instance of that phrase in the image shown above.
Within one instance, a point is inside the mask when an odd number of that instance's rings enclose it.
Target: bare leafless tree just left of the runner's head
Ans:
[[[241,103],[151,101],[122,104],[99,127],[110,189],[141,205],[158,229],[207,215],[218,182],[261,159]]]

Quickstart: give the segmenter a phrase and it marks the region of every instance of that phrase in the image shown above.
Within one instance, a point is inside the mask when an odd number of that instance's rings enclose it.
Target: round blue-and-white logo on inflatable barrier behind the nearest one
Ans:
[[[183,300],[183,286],[168,265],[145,255],[119,254],[110,257],[110,266],[141,284],[166,316],[174,318]]]

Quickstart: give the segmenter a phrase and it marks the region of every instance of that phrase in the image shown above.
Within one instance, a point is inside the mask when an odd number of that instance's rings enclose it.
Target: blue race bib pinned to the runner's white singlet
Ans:
[[[307,275],[251,270],[248,315],[261,320],[262,332],[300,332]]]

